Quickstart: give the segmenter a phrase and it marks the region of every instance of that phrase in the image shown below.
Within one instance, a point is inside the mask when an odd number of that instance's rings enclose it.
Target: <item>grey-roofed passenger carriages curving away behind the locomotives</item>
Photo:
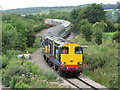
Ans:
[[[59,37],[67,38],[71,34],[72,24],[69,21],[60,19],[45,19],[45,24],[53,26],[49,29],[49,33],[51,34],[49,36],[58,35]],[[54,34],[52,31],[54,31]]]

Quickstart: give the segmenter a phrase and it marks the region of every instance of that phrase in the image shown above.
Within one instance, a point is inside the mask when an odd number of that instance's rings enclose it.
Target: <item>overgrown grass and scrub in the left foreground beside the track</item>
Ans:
[[[3,55],[4,67],[1,67],[1,70],[4,86],[10,88],[51,88],[54,84],[50,82],[60,82],[55,72],[45,72],[29,60],[17,58],[13,53],[16,51],[7,53],[9,58]],[[60,88],[60,86],[54,88]]]

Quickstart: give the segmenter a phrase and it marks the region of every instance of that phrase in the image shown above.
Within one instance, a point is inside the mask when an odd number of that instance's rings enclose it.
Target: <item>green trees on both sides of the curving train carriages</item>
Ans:
[[[71,12],[51,10],[48,15],[3,14],[3,51],[5,52],[8,49],[25,50],[27,47],[33,47],[35,34],[48,28],[44,24],[46,18],[71,21],[74,33],[81,33],[87,41],[95,41],[99,45],[102,44],[103,32],[115,32],[120,29],[119,23],[114,23],[106,18],[106,11],[99,4],[74,8]],[[119,33],[117,34],[113,40],[117,38],[119,41]]]

